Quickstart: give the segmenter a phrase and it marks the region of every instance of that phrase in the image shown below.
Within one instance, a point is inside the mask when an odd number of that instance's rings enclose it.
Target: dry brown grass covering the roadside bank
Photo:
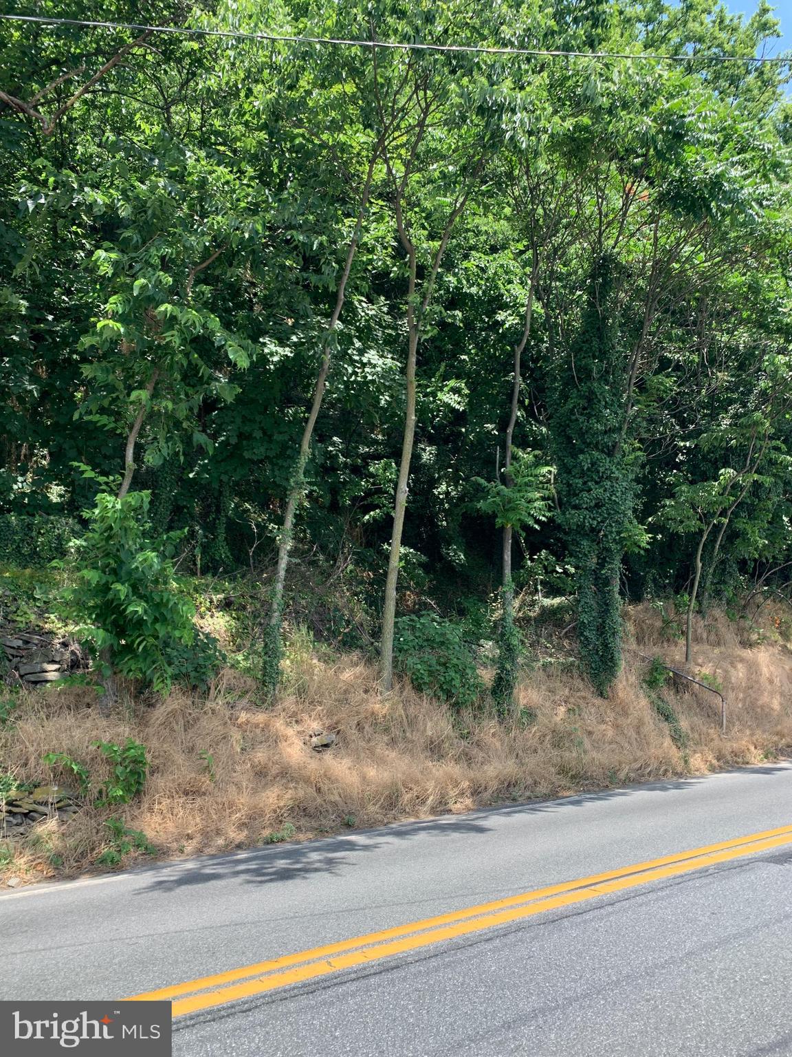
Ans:
[[[636,649],[679,663],[680,645],[663,632],[657,611],[636,607],[629,625]],[[108,764],[91,742],[132,736],[148,746],[151,772],[144,794],[117,814],[159,854],[177,856],[257,845],[286,823],[306,838],[345,824],[702,773],[782,753],[792,745],[786,647],[752,647],[753,632],[735,630],[721,615],[698,632],[696,670],[722,685],[729,731],[719,735],[714,694],[665,691],[689,734],[686,753],[652,708],[636,653],[626,653],[607,701],[573,674],[534,672],[508,723],[454,715],[404,684],[382,699],[373,668],[359,659],[303,653],[293,660],[290,689],[267,710],[250,703],[252,684],[230,670],[205,699],[174,691],[156,707],[128,702],[109,718],[97,716],[89,688],[25,693],[13,728],[0,731],[0,771],[22,780],[62,779],[50,776],[41,757],[63,752],[98,782]],[[520,709],[534,717],[530,725],[520,722]],[[331,749],[310,748],[318,730],[337,736]],[[202,753],[210,754],[213,775]],[[108,843],[107,815],[87,808],[62,826],[39,823],[11,842],[13,857],[0,876],[26,880],[90,869]]]

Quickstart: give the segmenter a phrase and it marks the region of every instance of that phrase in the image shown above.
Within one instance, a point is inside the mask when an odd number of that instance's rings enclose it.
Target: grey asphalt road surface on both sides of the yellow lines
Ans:
[[[110,999],[792,826],[792,765],[0,895],[0,997]],[[792,1054],[792,843],[174,1021],[174,1054]]]

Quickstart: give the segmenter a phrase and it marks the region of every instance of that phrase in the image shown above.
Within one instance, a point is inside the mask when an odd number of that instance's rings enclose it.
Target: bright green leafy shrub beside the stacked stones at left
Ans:
[[[90,527],[75,545],[78,585],[64,594],[65,615],[106,678],[118,672],[167,692],[174,666],[187,667],[178,650],[194,642],[195,608],[171,560],[180,534],[149,535],[149,500],[147,492],[96,497],[86,513]]]

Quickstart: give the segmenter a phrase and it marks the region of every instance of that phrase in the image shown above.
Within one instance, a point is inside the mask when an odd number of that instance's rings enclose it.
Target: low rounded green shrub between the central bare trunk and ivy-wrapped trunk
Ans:
[[[473,651],[459,629],[433,613],[396,622],[394,659],[416,690],[457,708],[475,704],[484,690]]]

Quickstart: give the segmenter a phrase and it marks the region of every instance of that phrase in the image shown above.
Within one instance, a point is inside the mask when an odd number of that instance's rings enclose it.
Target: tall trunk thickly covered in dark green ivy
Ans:
[[[618,272],[609,256],[592,265],[580,330],[557,372],[550,416],[561,525],[576,569],[581,660],[603,697],[621,669],[619,575],[633,515],[622,449],[626,372]]]

